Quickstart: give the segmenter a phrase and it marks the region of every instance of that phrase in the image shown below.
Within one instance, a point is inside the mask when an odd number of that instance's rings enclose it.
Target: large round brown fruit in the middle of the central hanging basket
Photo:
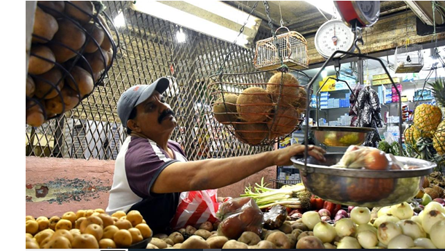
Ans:
[[[265,89],[250,87],[243,91],[236,100],[236,111],[244,121],[262,122],[268,119],[273,109],[272,100]]]

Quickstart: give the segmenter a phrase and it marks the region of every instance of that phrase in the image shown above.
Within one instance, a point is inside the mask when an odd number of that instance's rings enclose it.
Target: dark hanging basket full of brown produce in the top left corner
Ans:
[[[37,3],[26,78],[29,126],[62,116],[103,85],[119,44],[102,10],[91,1]]]

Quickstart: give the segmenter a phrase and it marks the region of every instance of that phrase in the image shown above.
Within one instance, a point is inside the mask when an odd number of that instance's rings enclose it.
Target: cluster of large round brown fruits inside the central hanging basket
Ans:
[[[248,87],[239,95],[227,92],[213,104],[215,119],[232,125],[234,135],[252,146],[293,132],[305,109],[306,90],[292,74],[281,72],[270,78],[266,89]]]

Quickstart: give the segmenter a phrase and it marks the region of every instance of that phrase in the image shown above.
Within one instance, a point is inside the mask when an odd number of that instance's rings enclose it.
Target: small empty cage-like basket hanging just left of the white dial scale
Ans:
[[[277,35],[277,42],[275,42],[274,37],[256,42],[255,68],[262,70],[277,69],[281,64],[286,64],[286,66],[295,69],[308,69],[309,58],[306,39],[296,31],[289,31],[286,26],[277,28],[277,31],[280,28],[286,28],[288,32]]]

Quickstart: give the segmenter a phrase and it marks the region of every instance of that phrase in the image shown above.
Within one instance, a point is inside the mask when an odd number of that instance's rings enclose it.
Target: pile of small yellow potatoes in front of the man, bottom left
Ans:
[[[152,236],[139,211],[68,211],[62,218],[26,216],[26,248],[128,248]]]

